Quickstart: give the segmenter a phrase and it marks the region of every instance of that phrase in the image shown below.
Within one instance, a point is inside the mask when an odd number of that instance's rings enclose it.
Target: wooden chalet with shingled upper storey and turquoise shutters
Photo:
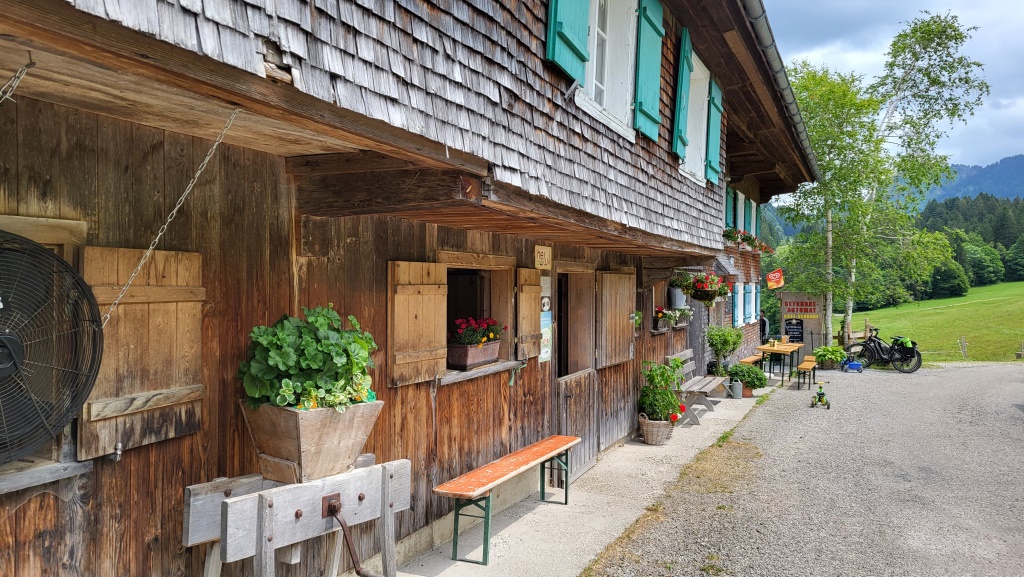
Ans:
[[[0,0],[3,78],[30,57],[0,230],[60,250],[102,310],[243,112],[136,281],[180,296],[119,308],[92,399],[182,393],[0,468],[13,577],[200,575],[183,488],[256,471],[248,333],[328,302],[380,343],[366,451],[413,463],[399,555],[439,545],[433,486],[559,432],[579,475],[634,432],[642,361],[703,355],[699,304],[651,330],[674,267],[732,275],[711,318],[753,346],[759,255],[723,225],[816,170],[761,0]],[[467,315],[509,325],[501,362],[447,370]],[[319,574],[324,546],[280,574]]]

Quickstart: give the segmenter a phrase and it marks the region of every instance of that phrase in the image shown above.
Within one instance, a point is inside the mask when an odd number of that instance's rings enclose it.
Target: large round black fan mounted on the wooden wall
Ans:
[[[82,277],[46,247],[0,231],[0,463],[35,452],[75,418],[102,351]]]

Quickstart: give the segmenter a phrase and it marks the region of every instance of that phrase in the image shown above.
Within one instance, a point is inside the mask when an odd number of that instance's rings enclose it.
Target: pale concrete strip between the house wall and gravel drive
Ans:
[[[755,395],[772,390],[758,389]],[[642,441],[621,443],[598,458],[569,491],[569,504],[540,503],[538,494],[492,520],[490,564],[452,561],[452,541],[402,565],[411,577],[574,577],[662,497],[683,465],[738,423],[757,399],[718,399],[715,412],[701,411],[700,425],[677,425],[660,447]],[[536,471],[527,473],[536,478]],[[561,492],[552,491],[559,496]],[[450,530],[451,531],[451,530]],[[460,557],[480,559],[482,528],[465,530]],[[372,566],[372,564],[371,564]]]

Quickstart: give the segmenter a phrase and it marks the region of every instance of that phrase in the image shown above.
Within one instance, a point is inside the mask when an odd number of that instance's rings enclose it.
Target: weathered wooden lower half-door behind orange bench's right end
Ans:
[[[562,404],[562,434],[583,441],[569,453],[571,483],[597,462],[600,446],[597,371],[588,369],[558,379]]]

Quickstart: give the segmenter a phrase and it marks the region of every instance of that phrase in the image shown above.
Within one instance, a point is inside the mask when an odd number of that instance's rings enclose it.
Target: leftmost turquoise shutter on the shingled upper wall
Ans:
[[[588,0],[551,0],[548,5],[547,58],[565,74],[584,83],[587,75]]]

